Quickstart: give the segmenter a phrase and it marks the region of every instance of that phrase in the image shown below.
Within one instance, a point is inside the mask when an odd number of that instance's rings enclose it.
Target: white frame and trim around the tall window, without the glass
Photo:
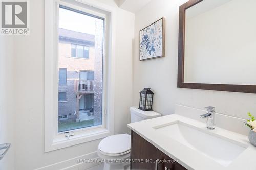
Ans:
[[[78,5],[79,4],[79,5]],[[58,8],[59,5],[105,18],[102,125],[58,133]],[[92,8],[93,7],[93,8]],[[105,14],[94,11],[97,8]],[[91,0],[45,0],[45,152],[101,139],[114,134],[115,8]],[[107,114],[108,113],[108,114]]]

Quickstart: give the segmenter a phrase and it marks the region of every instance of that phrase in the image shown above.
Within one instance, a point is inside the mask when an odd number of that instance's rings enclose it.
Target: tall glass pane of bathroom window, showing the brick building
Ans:
[[[58,65],[68,70],[67,90],[69,101],[59,103],[58,115],[69,115],[58,122],[58,132],[65,132],[102,125],[102,83],[103,83],[103,31],[104,19],[89,15],[66,6],[59,6],[59,48]],[[89,58],[89,46],[92,51]],[[71,47],[71,48],[69,48]],[[88,60],[74,60],[72,57]],[[82,71],[87,70],[87,71]],[[59,85],[65,83],[64,70],[59,69]],[[97,74],[94,74],[96,72]],[[59,101],[66,101],[59,92]]]

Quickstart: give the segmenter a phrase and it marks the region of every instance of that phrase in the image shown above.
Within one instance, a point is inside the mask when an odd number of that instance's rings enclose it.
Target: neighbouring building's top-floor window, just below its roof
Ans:
[[[89,59],[89,46],[71,44],[71,57]]]

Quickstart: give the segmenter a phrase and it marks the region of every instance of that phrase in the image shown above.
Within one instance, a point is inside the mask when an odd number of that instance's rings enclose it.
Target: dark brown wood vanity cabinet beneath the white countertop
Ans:
[[[156,161],[160,161],[156,163]],[[153,144],[131,131],[131,169],[186,170]],[[156,168],[157,164],[157,168]]]

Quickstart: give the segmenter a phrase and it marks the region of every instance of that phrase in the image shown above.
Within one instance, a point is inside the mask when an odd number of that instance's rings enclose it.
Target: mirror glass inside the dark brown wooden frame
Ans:
[[[203,0],[186,9],[184,83],[256,85],[255,7]]]

